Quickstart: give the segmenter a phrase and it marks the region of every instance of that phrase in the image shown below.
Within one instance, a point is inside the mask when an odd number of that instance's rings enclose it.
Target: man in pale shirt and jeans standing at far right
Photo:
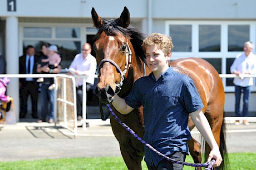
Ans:
[[[252,77],[242,77],[240,74],[255,74],[256,72],[256,56],[252,53],[253,43],[244,43],[244,53],[238,54],[235,58],[232,66],[230,67],[230,72],[236,74],[237,77],[234,78],[233,83],[235,84],[235,116],[247,117],[248,107],[249,107],[249,96],[250,87],[253,85]],[[243,92],[243,112],[240,113],[240,98]],[[235,124],[239,125],[239,121],[235,121]],[[247,120],[243,120],[243,124],[248,125]]]

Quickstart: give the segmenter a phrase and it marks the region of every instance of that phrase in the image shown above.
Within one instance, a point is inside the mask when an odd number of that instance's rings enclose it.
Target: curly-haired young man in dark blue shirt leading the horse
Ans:
[[[146,52],[149,76],[138,79],[126,98],[115,94],[113,106],[122,114],[144,107],[144,140],[161,153],[179,161],[185,161],[188,141],[189,114],[211,147],[208,161],[215,159],[219,166],[222,158],[209,123],[201,112],[203,103],[193,81],[169,67],[173,43],[171,38],[152,33],[142,44]],[[147,86],[145,86],[147,84]],[[149,169],[183,169],[183,165],[173,164],[145,147],[145,158]]]

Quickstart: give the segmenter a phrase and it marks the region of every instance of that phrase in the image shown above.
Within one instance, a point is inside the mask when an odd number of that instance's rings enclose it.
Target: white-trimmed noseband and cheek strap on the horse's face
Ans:
[[[126,59],[125,59],[125,69],[124,71],[121,70],[121,68],[116,64],[116,62],[114,62],[112,59],[109,58],[104,58],[101,60],[99,66],[98,66],[98,77],[99,77],[99,70],[100,67],[103,63],[109,62],[111,63],[113,66],[116,67],[117,71],[121,74],[121,78],[120,78],[120,83],[116,84],[116,94],[118,94],[121,91],[121,86],[122,86],[122,82],[125,79],[125,73],[127,72],[127,70],[129,69],[129,67],[131,66],[131,49],[129,47],[129,43],[127,41],[126,43],[127,48],[126,48]]]

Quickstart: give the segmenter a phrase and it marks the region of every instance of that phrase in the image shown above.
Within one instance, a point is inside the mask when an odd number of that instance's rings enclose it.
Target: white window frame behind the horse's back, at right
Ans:
[[[171,59],[198,57],[198,58],[220,58],[221,59],[221,74],[227,74],[227,58],[235,58],[237,54],[243,51],[229,52],[228,51],[228,26],[229,25],[249,25],[249,38],[254,44],[253,53],[255,53],[256,42],[256,22],[255,21],[205,21],[205,20],[184,20],[184,21],[165,21],[165,34],[170,36],[170,25],[191,25],[192,26],[192,44],[191,52],[173,52]],[[199,52],[199,25],[218,25],[220,26],[220,52]],[[174,44],[175,46],[175,44]],[[226,78],[222,78],[225,92],[234,92],[234,86],[226,86]],[[251,88],[256,91],[256,83]]]

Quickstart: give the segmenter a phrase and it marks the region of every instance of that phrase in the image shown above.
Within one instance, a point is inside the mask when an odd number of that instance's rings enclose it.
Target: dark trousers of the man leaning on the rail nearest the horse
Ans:
[[[93,86],[92,84],[86,83],[86,92],[90,91],[92,86]],[[77,109],[77,117],[83,116],[83,86],[76,87],[76,109]],[[86,114],[86,117],[87,115],[88,114]]]

